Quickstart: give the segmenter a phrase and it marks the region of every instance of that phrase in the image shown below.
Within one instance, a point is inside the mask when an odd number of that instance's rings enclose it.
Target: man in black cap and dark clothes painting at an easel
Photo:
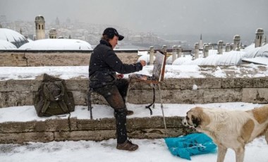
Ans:
[[[144,60],[139,63],[126,64],[116,56],[114,48],[124,37],[116,29],[108,27],[102,34],[102,39],[92,51],[90,57],[90,88],[104,96],[108,104],[114,108],[116,118],[117,149],[134,151],[137,144],[128,140],[126,131],[126,115],[133,114],[128,111],[125,98],[128,91],[128,80],[122,79],[123,74],[142,70],[146,65]],[[116,73],[120,73],[117,74]]]

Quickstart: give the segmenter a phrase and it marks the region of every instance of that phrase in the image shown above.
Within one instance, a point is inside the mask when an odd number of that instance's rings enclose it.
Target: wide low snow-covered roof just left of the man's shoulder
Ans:
[[[39,39],[23,44],[19,49],[35,50],[92,50],[92,46],[79,39]]]

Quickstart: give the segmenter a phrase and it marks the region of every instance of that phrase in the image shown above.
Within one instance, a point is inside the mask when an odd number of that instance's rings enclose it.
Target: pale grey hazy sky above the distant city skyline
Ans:
[[[60,21],[119,25],[137,32],[189,35],[268,33],[267,0],[0,0],[8,20]]]

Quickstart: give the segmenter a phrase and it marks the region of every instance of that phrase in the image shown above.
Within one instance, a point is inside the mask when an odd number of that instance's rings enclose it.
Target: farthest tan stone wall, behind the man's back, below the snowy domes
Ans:
[[[92,51],[0,51],[0,66],[88,66]],[[124,63],[135,63],[138,51],[123,50],[116,54]]]

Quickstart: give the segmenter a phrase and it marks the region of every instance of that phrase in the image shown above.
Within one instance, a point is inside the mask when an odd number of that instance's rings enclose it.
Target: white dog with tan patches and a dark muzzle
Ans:
[[[243,162],[245,144],[265,135],[268,144],[268,105],[249,111],[195,107],[183,118],[183,125],[204,132],[218,146],[217,162],[223,162],[228,148]]]

